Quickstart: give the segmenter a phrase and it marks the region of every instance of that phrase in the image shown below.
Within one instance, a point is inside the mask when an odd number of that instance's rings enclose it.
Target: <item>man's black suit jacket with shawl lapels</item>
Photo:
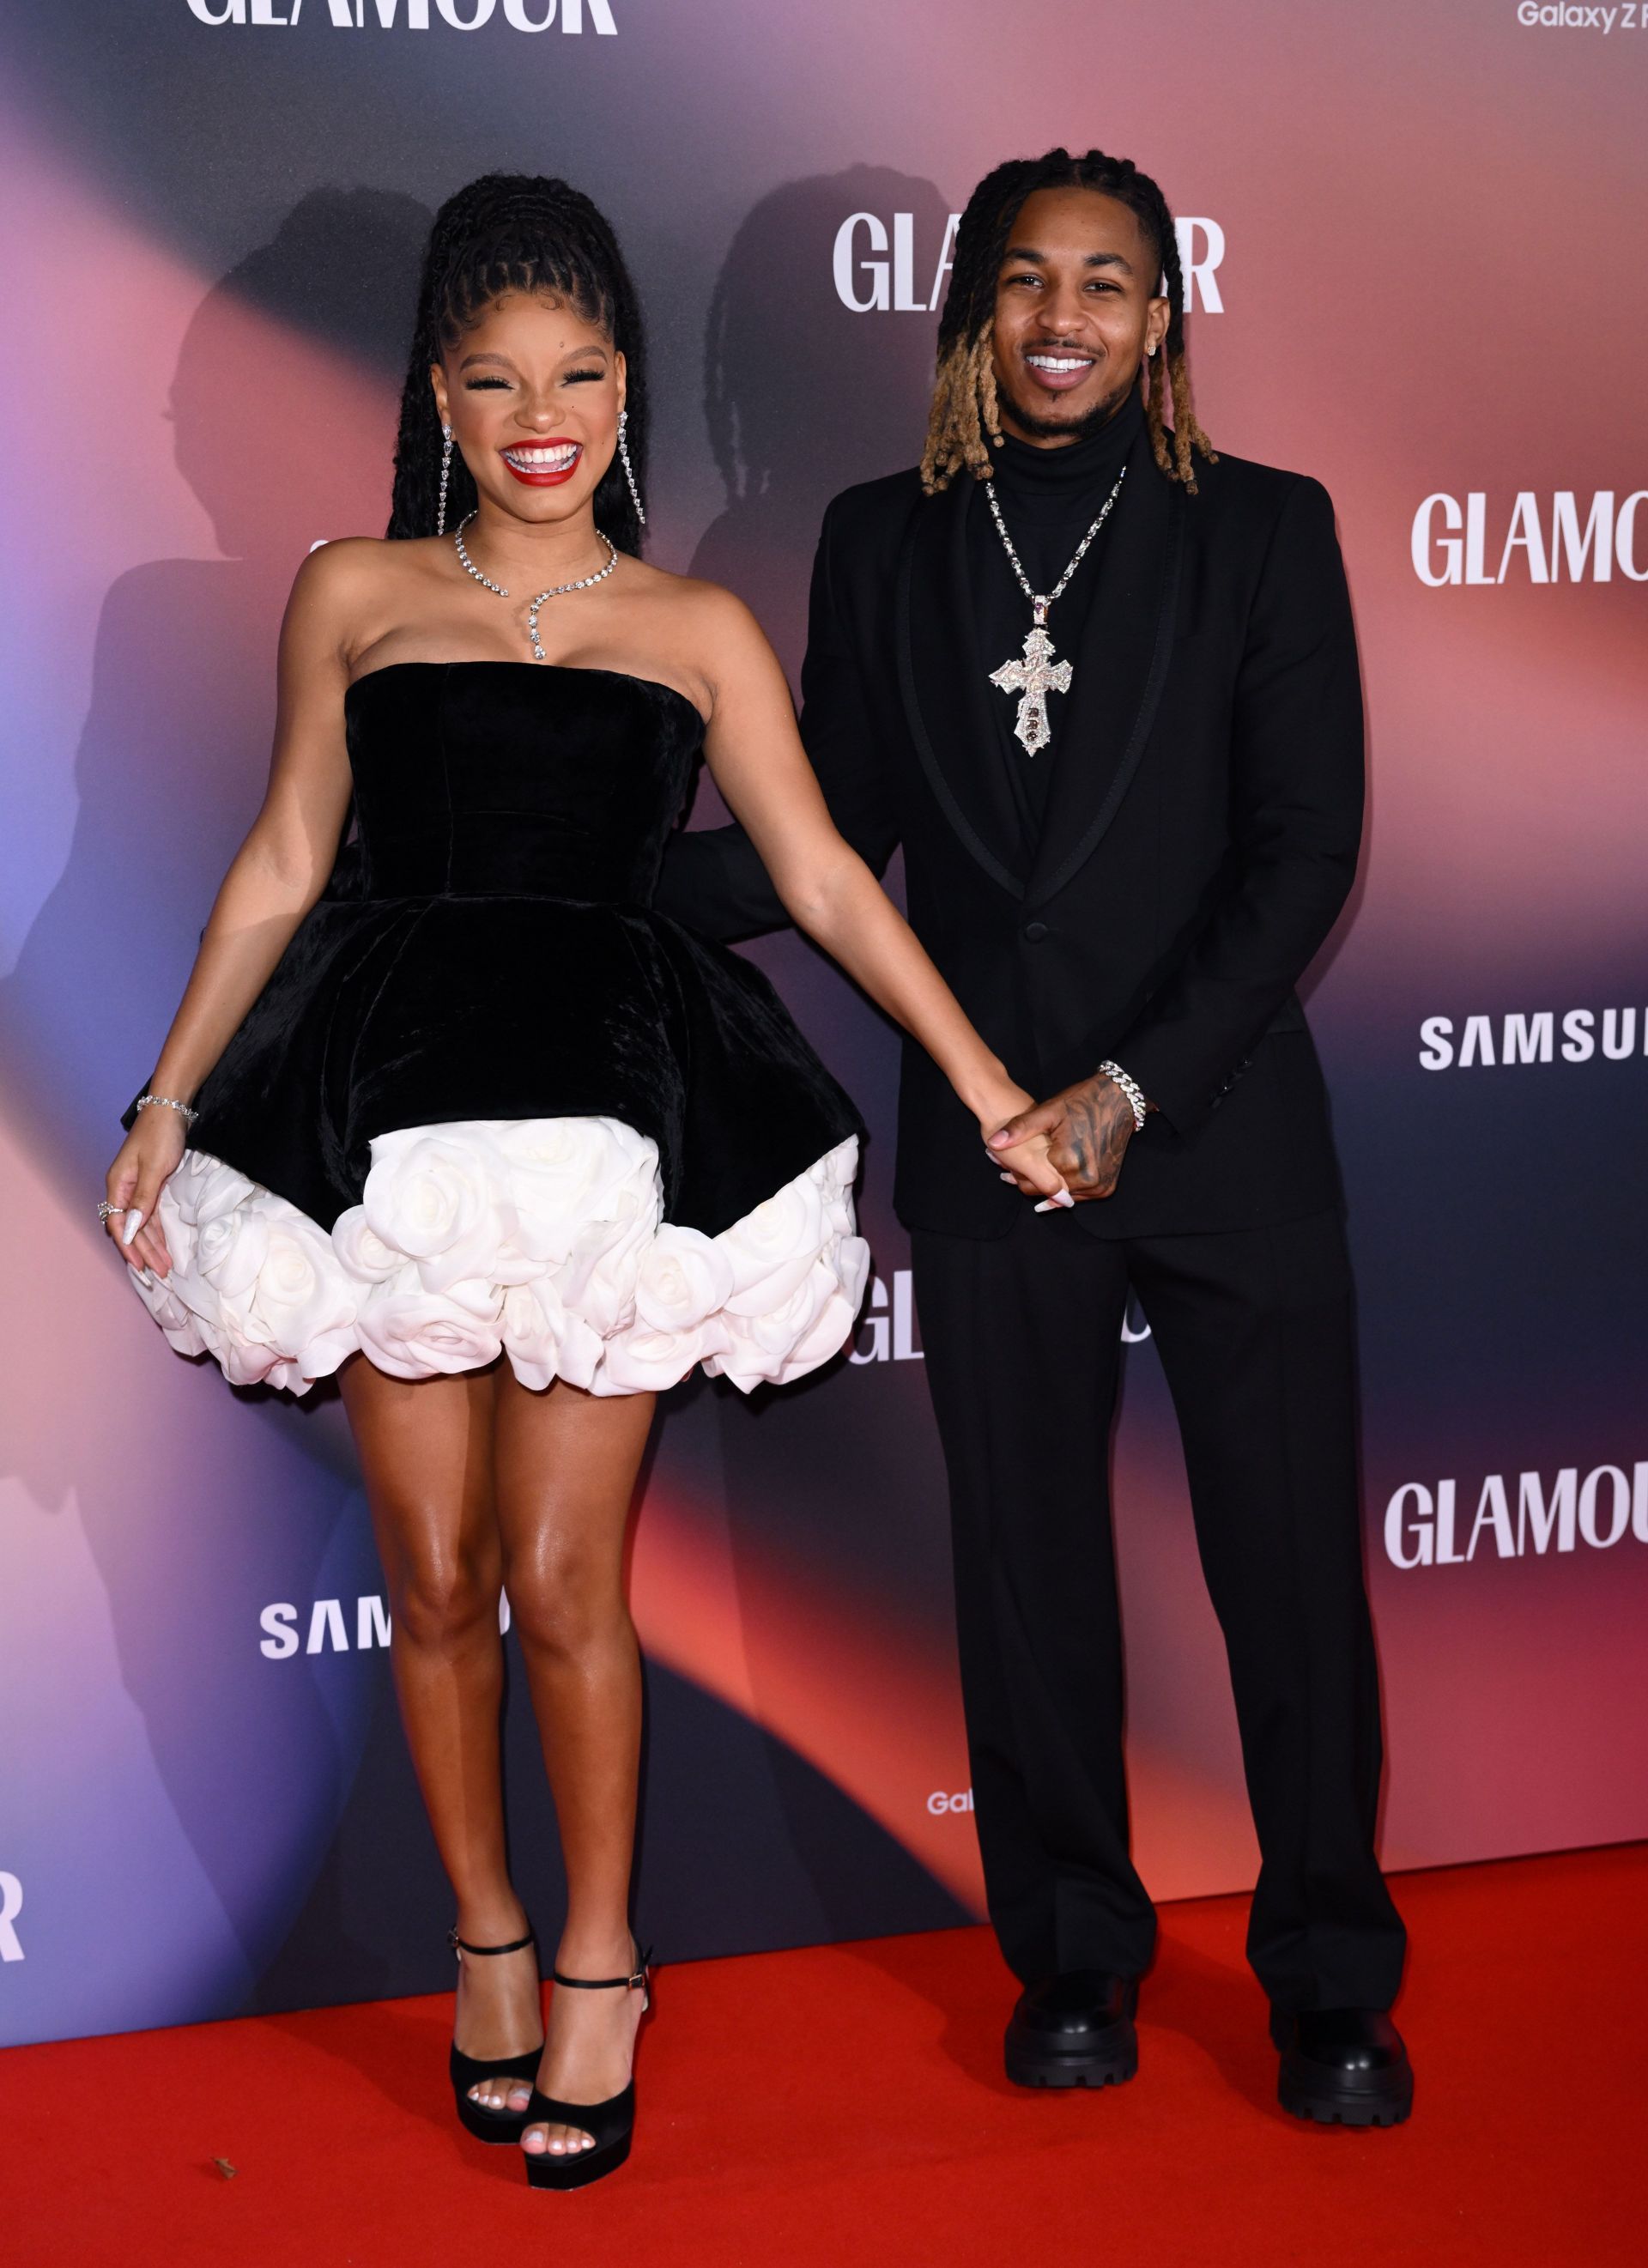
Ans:
[[[868,864],[904,846],[911,925],[1011,1075],[1040,1098],[1113,1057],[1156,1102],[1115,1195],[1070,1218],[1099,1236],[1260,1227],[1340,1202],[1294,987],[1362,828],[1344,567],[1328,494],[1301,474],[1220,458],[1190,497],[1140,435],[1127,483],[1120,572],[1065,649],[1034,857],[988,710],[1000,655],[970,624],[970,476],[927,499],[893,474],[825,513],[802,739]],[[657,903],[723,939],[789,919],[739,828],[676,835]],[[975,1238],[1025,1207],[914,1041],[895,1207]]]

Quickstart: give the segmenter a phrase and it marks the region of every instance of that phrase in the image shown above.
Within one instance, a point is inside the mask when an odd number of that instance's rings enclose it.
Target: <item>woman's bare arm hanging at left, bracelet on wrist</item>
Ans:
[[[274,755],[263,807],[233,855],[195,955],[184,1000],[152,1075],[156,1095],[193,1102],[270,980],[297,923],[326,887],[349,810],[342,694],[349,683],[351,599],[365,544],[326,544],[297,572],[281,624]],[[134,1268],[172,1266],[154,1220],[161,1184],[186,1145],[179,1111],[138,1111],[113,1166],[109,1232]]]

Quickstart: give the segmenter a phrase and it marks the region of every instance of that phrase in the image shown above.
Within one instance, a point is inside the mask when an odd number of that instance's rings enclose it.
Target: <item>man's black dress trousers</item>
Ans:
[[[1129,1284],[1179,1413],[1224,1631],[1272,2003],[1390,2007],[1403,1926],[1374,1857],[1378,1672],[1356,1486],[1351,1270],[1337,1213],[1102,1238],[1034,1213],[914,1236],[950,1470],[957,1628],[991,1921],[1022,1982],[1138,1975],[1156,1916],[1129,1857],[1111,1420]]]

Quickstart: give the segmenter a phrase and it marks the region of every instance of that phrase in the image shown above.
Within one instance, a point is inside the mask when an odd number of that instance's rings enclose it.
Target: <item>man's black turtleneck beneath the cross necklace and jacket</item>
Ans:
[[[1065,572],[1072,551],[1097,519],[1142,429],[1145,406],[1140,395],[1133,392],[1108,424],[1084,433],[1081,440],[1063,449],[1036,449],[1029,442],[1013,440],[1009,433],[1002,447],[991,451],[995,497],[1002,506],[1006,533],[1013,538],[1013,549],[1025,562],[1031,590],[1052,590]],[[1124,508],[1127,485],[1115,499],[1115,510],[1093,540],[1088,556],[1070,578],[1063,599],[1059,599],[1047,617],[1047,631],[1052,633],[1059,660],[1074,660],[1088,610],[1104,603],[1106,556],[1115,542]],[[968,578],[972,583],[972,612],[979,628],[979,658],[988,676],[1000,662],[1018,658],[1031,626],[1031,615],[1029,599],[1018,587],[982,490],[968,503]],[[1000,760],[1009,767],[1025,841],[1034,850],[1047,812],[1054,764],[1061,753],[1059,721],[1065,696],[1047,696],[1052,742],[1034,758],[1025,755],[1013,737],[1018,696],[1002,694],[993,685],[986,687],[986,696],[993,705]]]

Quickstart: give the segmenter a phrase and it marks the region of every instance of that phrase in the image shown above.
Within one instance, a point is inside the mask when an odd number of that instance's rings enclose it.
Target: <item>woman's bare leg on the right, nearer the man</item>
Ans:
[[[499,1372],[494,1483],[503,1581],[544,1742],[567,1864],[555,1966],[628,1975],[642,1665],[623,1599],[623,1531],[653,1422],[653,1395],[530,1393]],[[537,2084],[603,2102],[630,2075],[642,1996],[558,1991]],[[510,2107],[524,2105],[524,2091]],[[526,2148],[587,2148],[580,2127],[528,2127]]]

